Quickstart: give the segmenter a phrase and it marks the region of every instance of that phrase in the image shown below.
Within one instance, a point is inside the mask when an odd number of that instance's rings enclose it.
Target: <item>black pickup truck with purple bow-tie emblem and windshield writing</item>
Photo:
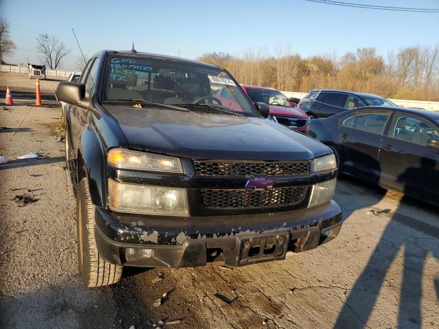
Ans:
[[[117,282],[124,265],[281,260],[340,231],[331,149],[266,119],[221,67],[100,51],[56,97],[87,287]]]

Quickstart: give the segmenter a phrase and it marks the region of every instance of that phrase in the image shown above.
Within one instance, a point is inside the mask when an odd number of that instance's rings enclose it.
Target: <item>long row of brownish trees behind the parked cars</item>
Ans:
[[[285,49],[247,51],[243,56],[206,53],[198,60],[230,71],[242,84],[283,91],[309,92],[334,88],[374,93],[387,98],[439,101],[439,46],[406,47],[377,54],[373,47],[358,48],[341,57],[302,58]]]

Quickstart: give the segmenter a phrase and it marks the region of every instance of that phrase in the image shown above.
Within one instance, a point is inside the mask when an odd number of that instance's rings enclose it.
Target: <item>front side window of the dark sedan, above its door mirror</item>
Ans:
[[[403,114],[396,117],[392,130],[390,130],[390,136],[423,146],[426,146],[430,139],[439,141],[439,132],[434,125],[428,121]]]

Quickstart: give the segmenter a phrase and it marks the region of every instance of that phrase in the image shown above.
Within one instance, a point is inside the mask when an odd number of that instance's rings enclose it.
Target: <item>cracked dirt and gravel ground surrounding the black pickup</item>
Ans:
[[[0,154],[10,160],[0,165],[1,328],[139,329],[158,321],[166,328],[439,328],[438,209],[346,178],[336,195],[346,221],[318,249],[239,269],[130,269],[112,287],[83,288],[64,144],[50,129],[60,114],[0,108],[1,126],[14,128],[0,130]],[[29,151],[45,158],[14,160]],[[23,193],[38,201],[12,200]],[[237,298],[226,304],[217,292]]]

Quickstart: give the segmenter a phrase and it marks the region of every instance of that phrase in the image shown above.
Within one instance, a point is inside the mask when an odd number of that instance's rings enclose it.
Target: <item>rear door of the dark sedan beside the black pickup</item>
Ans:
[[[351,112],[338,123],[340,169],[379,184],[379,149],[390,111]]]

